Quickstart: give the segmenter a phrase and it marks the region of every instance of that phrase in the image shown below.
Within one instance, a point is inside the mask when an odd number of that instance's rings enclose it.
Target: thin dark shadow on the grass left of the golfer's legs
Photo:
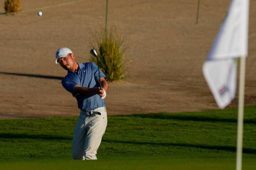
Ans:
[[[0,138],[13,138],[13,139],[46,139],[46,140],[72,140],[68,136],[53,136],[53,135],[29,135],[29,134],[0,134]]]

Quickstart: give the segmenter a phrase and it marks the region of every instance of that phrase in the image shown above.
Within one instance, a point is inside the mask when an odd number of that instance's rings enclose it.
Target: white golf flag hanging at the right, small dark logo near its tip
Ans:
[[[233,0],[212,48],[203,64],[203,74],[220,108],[236,91],[236,61],[248,53],[249,0]]]

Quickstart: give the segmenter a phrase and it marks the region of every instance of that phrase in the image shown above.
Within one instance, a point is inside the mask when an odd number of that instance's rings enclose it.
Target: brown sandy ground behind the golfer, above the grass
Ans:
[[[22,0],[22,11],[72,0]],[[217,109],[202,64],[230,0],[110,0],[108,26],[126,35],[125,81],[110,83],[108,115]],[[55,51],[69,47],[89,61],[90,30],[105,25],[105,0],[81,1],[17,15],[0,15],[0,118],[79,114],[60,79]],[[4,13],[4,1],[0,3]],[[256,104],[256,1],[250,2],[245,104]],[[238,103],[237,96],[229,107]]]

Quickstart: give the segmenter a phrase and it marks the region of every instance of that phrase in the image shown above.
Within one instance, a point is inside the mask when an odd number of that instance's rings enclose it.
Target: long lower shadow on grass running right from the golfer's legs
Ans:
[[[104,140],[104,139],[102,139],[102,142],[128,143],[128,144],[135,144],[135,145],[181,146],[181,147],[194,147],[194,148],[202,148],[202,149],[224,150],[224,151],[236,152],[236,147],[232,147],[232,146],[207,146],[207,145],[195,145],[195,144],[185,144],[185,143],[135,142],[135,141]],[[243,153],[256,154],[256,149],[243,148]]]

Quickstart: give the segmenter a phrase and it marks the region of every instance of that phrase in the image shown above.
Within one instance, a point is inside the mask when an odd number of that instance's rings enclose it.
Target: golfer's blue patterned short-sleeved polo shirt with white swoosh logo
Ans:
[[[68,74],[62,79],[62,86],[76,98],[79,109],[83,111],[90,111],[99,107],[104,107],[104,100],[97,94],[81,95],[73,92],[75,85],[89,88],[100,86],[97,81],[99,79],[98,67],[94,62],[78,63],[78,65],[78,71],[68,71]],[[100,75],[101,77],[106,78],[101,69]]]

